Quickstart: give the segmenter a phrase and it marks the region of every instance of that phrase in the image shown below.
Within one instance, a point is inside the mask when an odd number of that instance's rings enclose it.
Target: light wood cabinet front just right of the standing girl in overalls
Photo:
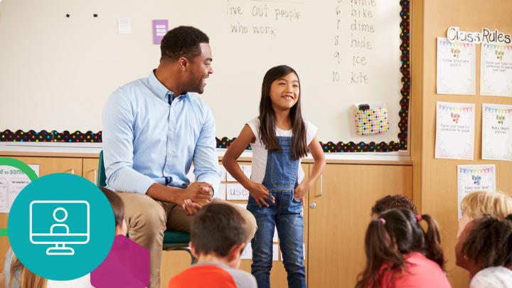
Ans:
[[[412,166],[333,165],[309,191],[308,287],[354,287],[366,265],[371,207],[387,195],[412,198]]]

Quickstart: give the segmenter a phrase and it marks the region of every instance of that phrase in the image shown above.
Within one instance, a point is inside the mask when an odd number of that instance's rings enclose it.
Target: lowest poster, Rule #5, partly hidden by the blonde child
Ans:
[[[495,165],[458,165],[457,166],[458,198],[457,210],[462,217],[460,203],[469,193],[474,191],[496,192]]]

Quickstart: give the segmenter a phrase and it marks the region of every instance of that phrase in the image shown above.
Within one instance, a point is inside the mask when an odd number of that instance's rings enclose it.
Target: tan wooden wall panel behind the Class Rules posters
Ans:
[[[481,31],[482,28],[512,33],[511,1],[418,1],[423,9],[422,76],[415,74],[413,85],[422,81],[421,95],[412,95],[422,102],[422,148],[420,191],[415,186],[415,196],[420,196],[422,213],[434,216],[442,228],[442,246],[447,259],[447,275],[452,287],[467,287],[468,273],[455,265],[454,246],[457,243],[457,165],[496,164],[496,189],[512,193],[512,162],[481,160],[481,104],[494,103],[512,105],[511,97],[479,95],[480,49],[476,45],[476,95],[436,94],[437,37],[446,37],[450,26],[459,26],[461,31]],[[415,10],[417,12],[417,10]],[[412,17],[417,16],[415,13]],[[413,63],[412,65],[415,65]],[[417,93],[417,90],[414,90]],[[475,153],[474,161],[434,159],[435,102],[474,103]],[[416,106],[415,106],[416,107]],[[413,113],[412,117],[416,117]],[[418,127],[413,127],[417,129]],[[415,131],[415,130],[413,130]],[[413,132],[415,133],[415,132]],[[413,158],[417,157],[414,155]],[[416,178],[415,178],[416,181]]]

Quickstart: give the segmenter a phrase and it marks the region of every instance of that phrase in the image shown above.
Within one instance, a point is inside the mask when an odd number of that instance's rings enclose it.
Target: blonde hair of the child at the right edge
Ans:
[[[503,219],[512,214],[512,198],[502,191],[475,191],[462,199],[461,210],[469,220],[484,214]]]

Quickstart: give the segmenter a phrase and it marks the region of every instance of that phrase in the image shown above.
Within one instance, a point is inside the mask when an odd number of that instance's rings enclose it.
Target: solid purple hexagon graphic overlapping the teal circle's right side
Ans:
[[[107,258],[91,272],[91,284],[96,288],[142,288],[149,285],[149,251],[117,235]]]

